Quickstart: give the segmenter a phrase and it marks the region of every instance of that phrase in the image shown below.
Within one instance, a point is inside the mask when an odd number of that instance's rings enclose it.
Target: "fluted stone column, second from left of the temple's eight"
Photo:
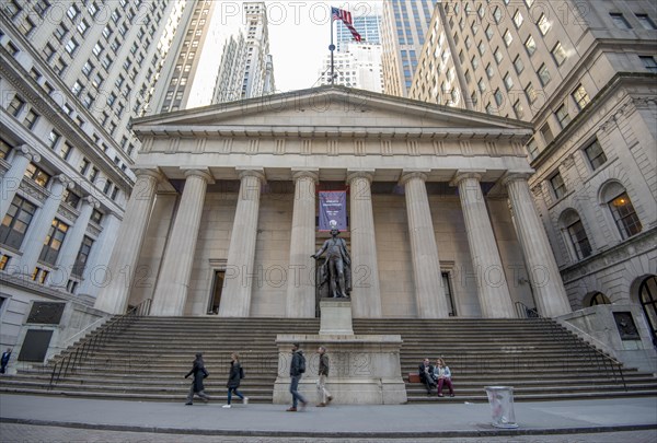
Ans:
[[[181,316],[185,312],[189,276],[208,183],[207,170],[185,171],[185,189],[158,275],[150,315]]]

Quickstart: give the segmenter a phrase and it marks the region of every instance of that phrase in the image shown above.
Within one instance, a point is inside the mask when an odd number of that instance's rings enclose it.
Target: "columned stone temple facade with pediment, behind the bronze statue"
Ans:
[[[322,86],[132,130],[137,184],[99,310],[314,317],[318,193],[346,190],[355,318],[572,311],[528,186],[528,124]]]

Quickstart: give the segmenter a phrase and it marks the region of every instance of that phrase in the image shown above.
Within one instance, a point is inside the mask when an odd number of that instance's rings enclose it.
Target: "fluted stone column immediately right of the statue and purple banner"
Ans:
[[[348,171],[354,318],[381,317],[381,291],[372,212],[373,171]]]

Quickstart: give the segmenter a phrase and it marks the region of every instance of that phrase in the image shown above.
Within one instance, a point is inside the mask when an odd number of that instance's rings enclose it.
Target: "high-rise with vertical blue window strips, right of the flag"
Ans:
[[[408,95],[435,3],[435,0],[383,2],[381,40],[383,84],[387,94]]]

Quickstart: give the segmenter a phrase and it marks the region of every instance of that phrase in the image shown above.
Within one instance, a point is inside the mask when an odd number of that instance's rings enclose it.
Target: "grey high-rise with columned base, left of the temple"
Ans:
[[[107,252],[130,193],[149,191],[134,190],[128,124],[150,101],[183,5],[2,3],[0,346],[24,322],[45,325],[25,335],[38,350],[103,316],[94,298],[119,278],[105,272]]]

